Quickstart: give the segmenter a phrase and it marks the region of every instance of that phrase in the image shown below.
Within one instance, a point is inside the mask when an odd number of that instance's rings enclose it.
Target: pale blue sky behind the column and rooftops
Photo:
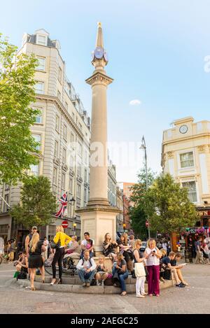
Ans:
[[[3,15],[2,15],[3,13]],[[209,0],[19,0],[1,3],[0,31],[16,45],[22,34],[43,28],[61,43],[66,74],[87,111],[97,22],[109,52],[109,141],[139,142],[144,134],[148,165],[160,171],[162,131],[181,117],[210,120]],[[140,105],[130,106],[139,99]],[[117,167],[119,181],[136,181],[133,167]]]

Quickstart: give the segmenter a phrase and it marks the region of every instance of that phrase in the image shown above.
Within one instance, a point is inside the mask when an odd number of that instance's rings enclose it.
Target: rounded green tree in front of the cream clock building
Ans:
[[[188,190],[176,183],[169,173],[155,179],[144,204],[155,231],[171,234],[193,227],[196,222],[195,206],[188,199]]]

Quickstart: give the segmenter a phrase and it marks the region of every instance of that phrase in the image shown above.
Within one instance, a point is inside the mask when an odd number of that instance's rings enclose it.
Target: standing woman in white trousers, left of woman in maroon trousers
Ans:
[[[144,257],[144,252],[141,252],[140,248],[141,248],[141,240],[137,239],[134,243],[134,270],[135,270],[135,275],[137,277],[136,294],[137,297],[144,298],[146,295],[146,292],[144,290],[144,284],[146,280],[146,272],[144,269],[145,257]],[[141,266],[139,263],[141,263]]]

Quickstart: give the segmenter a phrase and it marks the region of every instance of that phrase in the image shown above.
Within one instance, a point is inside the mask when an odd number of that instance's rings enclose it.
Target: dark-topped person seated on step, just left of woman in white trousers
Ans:
[[[118,276],[122,290],[121,296],[125,296],[127,294],[125,279],[128,277],[128,271],[127,264],[125,262],[125,259],[123,258],[123,254],[121,254],[120,252],[118,252],[116,262],[114,262],[113,264],[112,275],[113,278],[115,278],[115,275]]]

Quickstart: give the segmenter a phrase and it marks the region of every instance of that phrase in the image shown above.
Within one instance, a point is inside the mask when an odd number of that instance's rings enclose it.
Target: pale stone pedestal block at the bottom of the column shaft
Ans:
[[[116,216],[121,211],[119,208],[105,205],[88,205],[76,211],[81,218],[81,240],[84,233],[90,233],[94,239],[95,256],[102,255],[104,236],[109,232],[112,240],[116,240]]]

